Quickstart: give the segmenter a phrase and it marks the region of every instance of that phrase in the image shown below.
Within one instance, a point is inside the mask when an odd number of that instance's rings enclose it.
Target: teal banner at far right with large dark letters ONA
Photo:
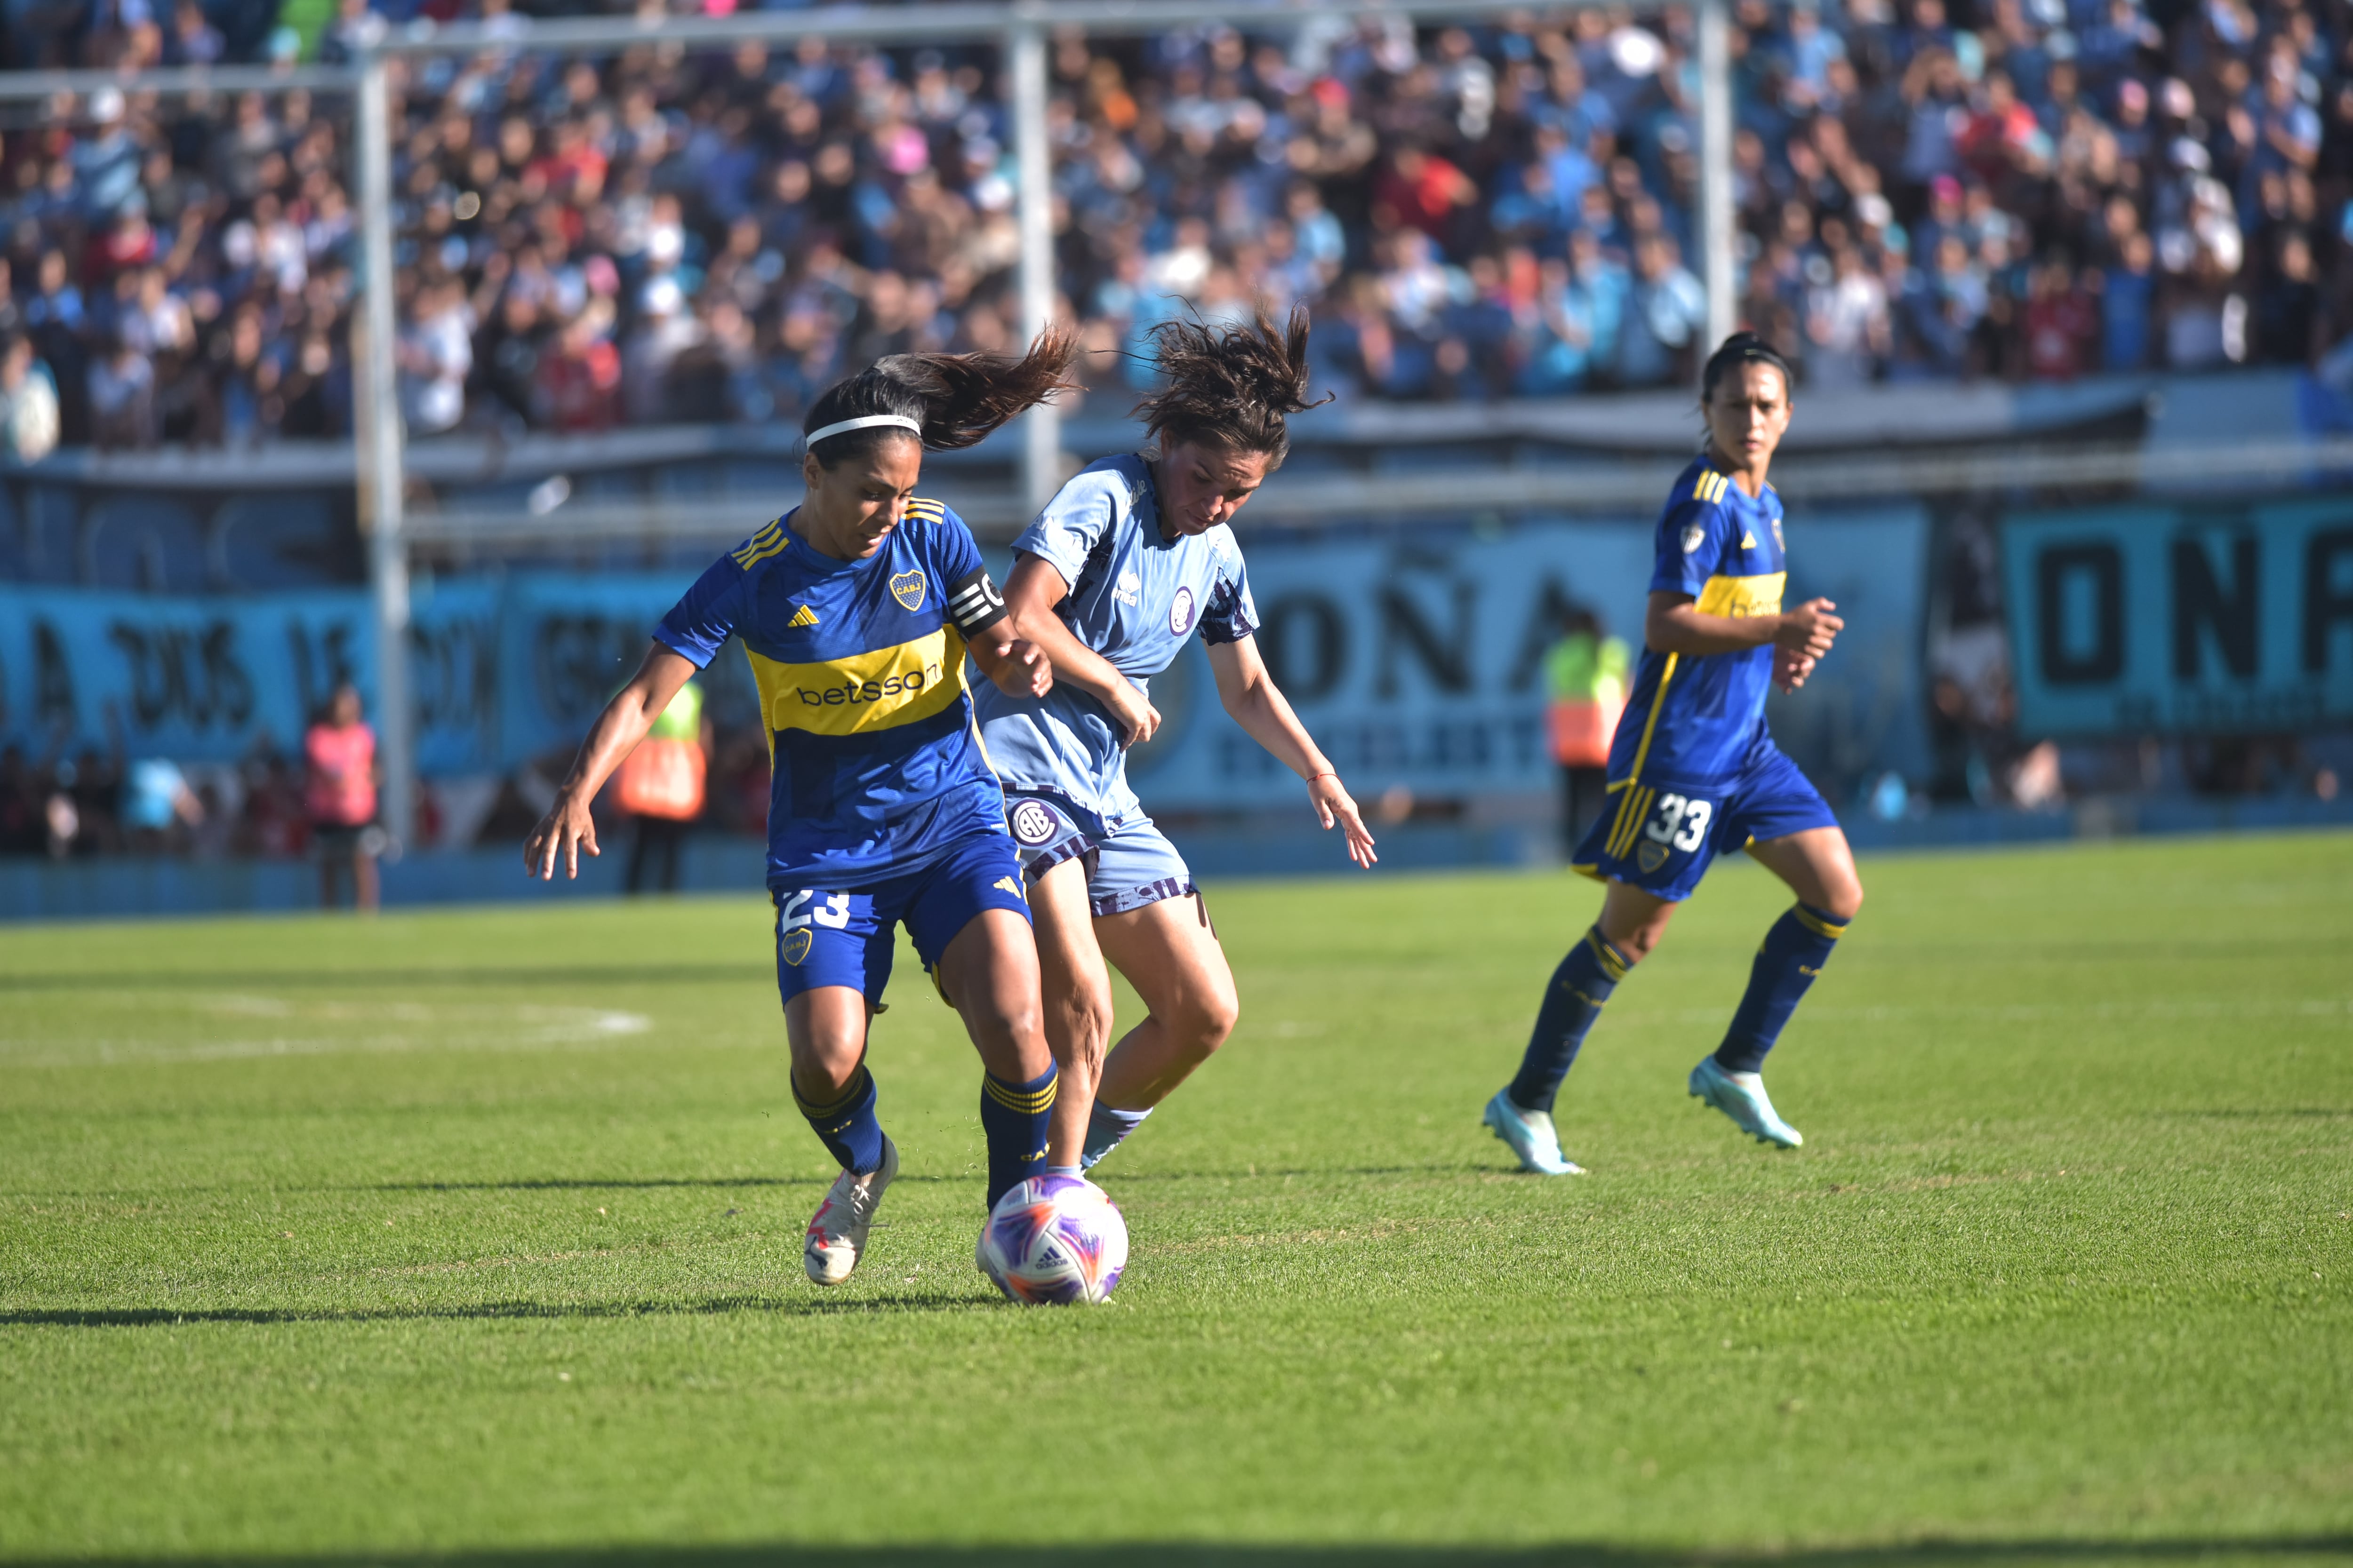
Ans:
[[[2017,515],[2002,581],[2028,736],[2353,719],[2353,501]]]

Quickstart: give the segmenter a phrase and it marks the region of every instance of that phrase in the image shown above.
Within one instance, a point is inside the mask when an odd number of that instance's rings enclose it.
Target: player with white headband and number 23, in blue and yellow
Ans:
[[[1012,635],[979,545],[918,501],[925,447],[969,447],[1064,386],[1075,343],[1024,360],[894,355],[842,381],[802,421],[807,498],[722,555],[654,628],[605,708],[525,865],[579,875],[598,853],[588,802],[671,696],[744,639],[769,736],[767,886],[793,1098],[840,1164],[802,1265],[821,1286],[866,1251],[899,1150],[875,1117],[866,1025],[882,1006],[894,929],[981,1053],[988,1204],[1045,1168],[1054,1060],[1038,1004],[1021,860],[1005,795],[974,741],[965,654],[991,682],[1042,696],[1052,668]]]

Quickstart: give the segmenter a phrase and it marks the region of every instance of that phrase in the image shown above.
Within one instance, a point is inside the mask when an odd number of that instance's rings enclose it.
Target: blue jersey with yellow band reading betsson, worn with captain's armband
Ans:
[[[722,555],[654,639],[708,665],[744,639],[769,741],[767,879],[856,886],[1005,832],[972,729],[965,639],[1005,618],[965,522],[939,501],[861,562],[793,512]]]

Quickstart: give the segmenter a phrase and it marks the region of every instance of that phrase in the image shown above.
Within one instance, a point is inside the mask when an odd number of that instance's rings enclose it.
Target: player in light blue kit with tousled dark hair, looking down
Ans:
[[[1306,400],[1306,313],[1212,329],[1162,322],[1162,388],[1139,404],[1153,451],[1082,470],[1014,541],[1005,597],[1054,661],[1045,696],[981,691],[981,733],[1031,882],[1047,1041],[1061,1067],[1052,1168],[1092,1166],[1217,1051],[1235,1023],[1233,971],[1184,856],[1127,788],[1127,745],[1160,724],[1146,682],[1193,632],[1226,712],[1308,790],[1348,856],[1372,835],[1332,762],[1266,675],[1242,550],[1228,520],[1289,451]],[[1146,1018],[1111,1039],[1118,966]]]

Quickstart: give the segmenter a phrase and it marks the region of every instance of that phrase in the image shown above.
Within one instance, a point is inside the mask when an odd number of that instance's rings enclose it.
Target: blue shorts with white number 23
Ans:
[[[882,1001],[896,926],[906,922],[925,969],[981,910],[1028,919],[1021,860],[1000,832],[974,835],[929,865],[849,889],[769,889],[776,900],[776,992],[791,1001],[819,985],[847,985]]]

